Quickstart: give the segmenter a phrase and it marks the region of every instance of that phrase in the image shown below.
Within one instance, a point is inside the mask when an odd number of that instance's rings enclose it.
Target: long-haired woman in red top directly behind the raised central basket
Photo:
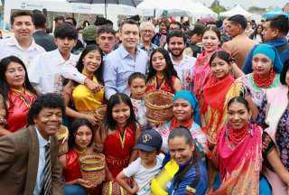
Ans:
[[[169,52],[158,48],[152,52],[150,68],[147,75],[146,90],[164,90],[174,94],[182,89],[181,80],[173,69]]]

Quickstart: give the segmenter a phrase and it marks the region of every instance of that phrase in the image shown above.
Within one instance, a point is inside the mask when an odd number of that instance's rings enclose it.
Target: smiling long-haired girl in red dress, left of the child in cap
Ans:
[[[140,126],[130,98],[122,93],[113,95],[107,104],[107,116],[96,134],[96,148],[106,156],[107,181],[115,181],[117,174],[136,159],[133,147],[139,135]]]

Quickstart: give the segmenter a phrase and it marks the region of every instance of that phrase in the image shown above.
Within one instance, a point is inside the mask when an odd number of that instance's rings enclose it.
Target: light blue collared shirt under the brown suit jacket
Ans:
[[[45,166],[45,145],[49,144],[50,141],[47,141],[42,137],[39,130],[36,128],[36,135],[39,144],[39,157],[38,157],[38,169],[36,183],[33,190],[33,195],[39,195],[42,190],[43,177],[44,177],[44,166]]]

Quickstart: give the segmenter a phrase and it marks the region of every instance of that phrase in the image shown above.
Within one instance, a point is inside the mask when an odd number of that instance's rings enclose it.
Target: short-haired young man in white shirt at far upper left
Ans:
[[[35,26],[33,14],[27,11],[15,12],[11,16],[11,28],[14,36],[1,40],[0,60],[7,56],[14,55],[23,60],[28,68],[35,56],[45,50],[33,40]]]

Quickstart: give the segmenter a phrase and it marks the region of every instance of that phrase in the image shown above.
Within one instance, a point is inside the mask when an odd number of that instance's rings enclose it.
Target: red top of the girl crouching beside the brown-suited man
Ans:
[[[82,178],[79,165],[79,153],[70,149],[66,153],[66,168],[63,170],[65,181],[74,181]]]

